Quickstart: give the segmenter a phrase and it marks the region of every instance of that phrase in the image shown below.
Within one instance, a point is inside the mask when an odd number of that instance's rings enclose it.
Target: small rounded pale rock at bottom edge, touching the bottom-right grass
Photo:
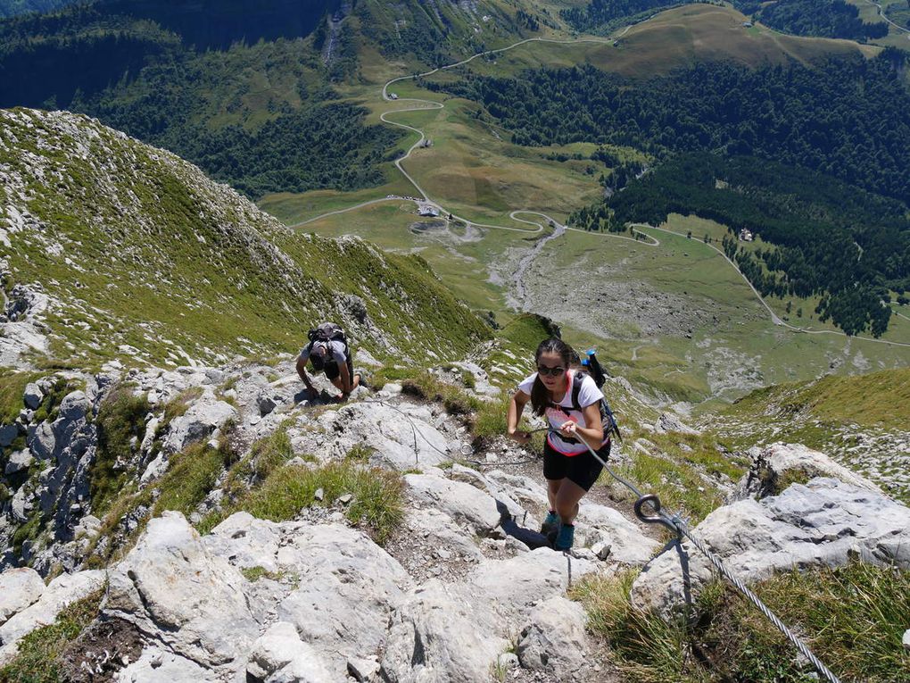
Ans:
[[[530,623],[521,631],[521,666],[547,672],[556,680],[574,679],[588,666],[586,621],[584,608],[563,596],[541,602],[531,611]]]

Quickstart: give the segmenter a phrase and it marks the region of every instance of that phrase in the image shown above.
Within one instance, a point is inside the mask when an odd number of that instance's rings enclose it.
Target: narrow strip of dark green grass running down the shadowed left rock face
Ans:
[[[103,517],[116,495],[123,489],[129,474],[118,464],[133,457],[131,441],[146,430],[150,410],[146,394],[134,396],[126,387],[110,392],[98,410],[98,448],[89,469],[92,514]]]

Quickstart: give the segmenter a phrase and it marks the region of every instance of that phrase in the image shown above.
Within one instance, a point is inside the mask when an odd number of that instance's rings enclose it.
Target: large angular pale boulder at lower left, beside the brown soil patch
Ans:
[[[246,580],[211,555],[183,515],[152,519],[110,575],[103,613],[132,622],[204,667],[232,662],[258,635]]]

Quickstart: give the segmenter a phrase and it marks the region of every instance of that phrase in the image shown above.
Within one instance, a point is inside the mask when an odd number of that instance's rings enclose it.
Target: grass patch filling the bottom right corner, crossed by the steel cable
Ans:
[[[636,681],[814,680],[789,641],[732,586],[703,587],[693,615],[665,621],[629,602],[637,569],[586,576],[570,596],[588,613],[588,628]],[[753,586],[843,680],[906,680],[901,645],[910,615],[910,571],[860,562],[790,571]]]

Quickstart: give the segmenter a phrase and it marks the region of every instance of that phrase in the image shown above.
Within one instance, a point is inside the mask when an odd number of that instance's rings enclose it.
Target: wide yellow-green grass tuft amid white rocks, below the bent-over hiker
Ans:
[[[317,501],[314,494],[320,488],[323,499]],[[345,460],[318,468],[288,465],[277,469],[234,505],[217,515],[208,515],[199,531],[205,533],[241,510],[282,522],[295,518],[304,507],[333,505],[343,494],[352,495],[346,511],[348,519],[364,526],[379,544],[386,542],[404,516],[404,480],[400,474]]]

